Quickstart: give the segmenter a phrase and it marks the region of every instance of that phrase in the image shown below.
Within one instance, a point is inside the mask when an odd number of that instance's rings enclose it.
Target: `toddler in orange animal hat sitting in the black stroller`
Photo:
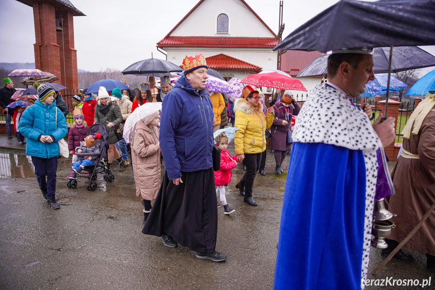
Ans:
[[[98,159],[98,155],[100,155],[100,149],[98,141],[101,138],[101,134],[89,135],[86,136],[84,141],[81,142],[81,145],[76,147],[77,153],[83,153],[82,156],[79,157],[79,161],[73,164],[73,171],[71,173],[70,180],[76,180],[77,175],[85,168],[86,165],[94,164]],[[94,153],[86,155],[86,153]]]

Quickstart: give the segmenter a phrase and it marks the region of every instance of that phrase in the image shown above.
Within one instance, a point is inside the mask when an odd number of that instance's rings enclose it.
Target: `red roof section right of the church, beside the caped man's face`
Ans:
[[[285,50],[281,56],[281,71],[295,77],[316,57],[323,54],[320,51]]]

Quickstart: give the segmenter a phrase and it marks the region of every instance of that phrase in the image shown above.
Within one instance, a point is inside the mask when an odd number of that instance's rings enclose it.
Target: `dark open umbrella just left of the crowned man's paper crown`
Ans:
[[[157,76],[157,74],[164,74],[170,72],[182,72],[182,69],[171,62],[154,59],[153,57],[151,57],[151,59],[134,63],[127,69],[123,70],[121,73],[123,75]]]

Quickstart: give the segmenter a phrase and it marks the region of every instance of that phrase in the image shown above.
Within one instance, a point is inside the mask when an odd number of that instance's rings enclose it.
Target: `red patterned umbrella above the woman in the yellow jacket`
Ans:
[[[282,90],[307,91],[299,80],[276,72],[249,75],[240,83]]]

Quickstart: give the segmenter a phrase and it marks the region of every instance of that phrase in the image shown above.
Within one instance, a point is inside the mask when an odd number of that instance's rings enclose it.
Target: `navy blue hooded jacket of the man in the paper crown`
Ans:
[[[181,76],[162,103],[160,148],[170,180],[213,166],[213,106],[205,89]]]

